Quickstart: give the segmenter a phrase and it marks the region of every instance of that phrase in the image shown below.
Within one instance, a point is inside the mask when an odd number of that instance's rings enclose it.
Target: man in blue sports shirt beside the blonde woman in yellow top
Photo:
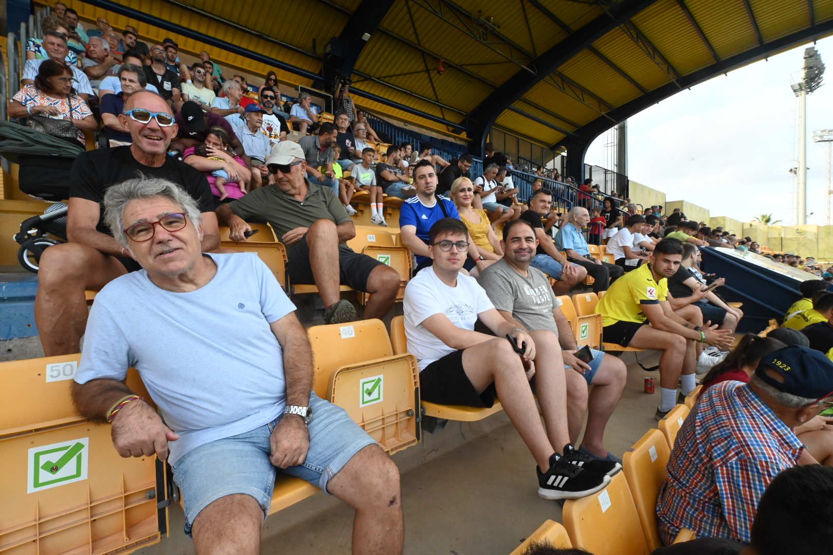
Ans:
[[[414,275],[419,270],[431,265],[431,250],[428,249],[428,235],[431,225],[443,218],[456,218],[460,220],[460,214],[451,199],[442,195],[435,195],[436,191],[436,169],[431,161],[421,160],[416,163],[413,169],[414,186],[416,196],[402,203],[399,213],[399,227],[402,233],[402,245],[416,256],[416,268]],[[477,252],[471,236],[468,238],[468,259],[463,266],[471,271],[477,268],[480,272],[486,265],[483,257]]]

